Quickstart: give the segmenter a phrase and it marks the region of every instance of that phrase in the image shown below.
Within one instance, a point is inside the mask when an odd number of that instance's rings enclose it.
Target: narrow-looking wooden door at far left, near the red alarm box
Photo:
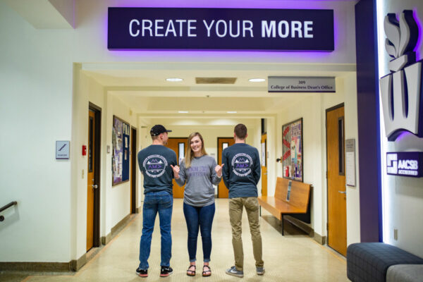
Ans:
[[[87,147],[87,251],[94,245],[94,165],[95,165],[95,112],[89,111],[88,116],[88,147]]]

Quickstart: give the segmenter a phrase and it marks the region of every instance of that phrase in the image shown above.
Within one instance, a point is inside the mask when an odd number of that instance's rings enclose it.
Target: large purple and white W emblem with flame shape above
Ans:
[[[388,13],[384,27],[385,49],[391,56],[391,73],[380,80],[386,137],[389,141],[408,131],[423,137],[423,73],[422,61],[416,63],[413,51],[419,38],[419,27],[412,10],[400,14]]]

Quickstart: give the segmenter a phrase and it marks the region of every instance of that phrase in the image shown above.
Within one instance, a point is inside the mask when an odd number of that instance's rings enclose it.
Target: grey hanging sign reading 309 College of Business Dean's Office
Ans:
[[[268,92],[335,92],[335,78],[269,76]]]

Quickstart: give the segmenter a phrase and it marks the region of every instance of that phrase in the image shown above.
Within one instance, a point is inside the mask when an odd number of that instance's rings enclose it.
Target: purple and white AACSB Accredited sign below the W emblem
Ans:
[[[423,152],[386,153],[386,173],[391,176],[423,176]]]

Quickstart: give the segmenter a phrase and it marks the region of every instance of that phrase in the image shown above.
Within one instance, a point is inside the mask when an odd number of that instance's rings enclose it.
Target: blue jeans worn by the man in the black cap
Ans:
[[[170,266],[172,256],[172,219],[173,197],[166,191],[145,194],[142,206],[142,235],[140,241],[140,269],[148,269],[148,257],[152,245],[152,233],[157,212],[160,219],[161,266]]]

